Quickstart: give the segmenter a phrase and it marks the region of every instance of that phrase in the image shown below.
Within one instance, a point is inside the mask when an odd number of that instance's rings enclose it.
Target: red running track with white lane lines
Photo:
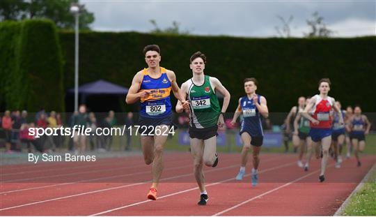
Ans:
[[[205,167],[207,206],[197,205],[199,190],[187,153],[165,154],[157,201],[146,200],[151,172],[141,156],[2,166],[0,215],[329,216],[375,164],[376,156],[363,157],[361,167],[352,158],[345,160],[340,169],[329,160],[324,183],[318,182],[320,160],[313,160],[308,172],[297,167],[296,160],[290,154],[262,154],[260,183],[252,188],[251,163],[244,181],[235,181],[240,154],[221,154],[217,167]]]

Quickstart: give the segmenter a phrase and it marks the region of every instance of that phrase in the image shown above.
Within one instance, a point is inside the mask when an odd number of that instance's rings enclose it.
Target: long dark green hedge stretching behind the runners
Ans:
[[[65,89],[74,87],[74,33],[61,32]],[[244,95],[242,81],[256,77],[258,93],[269,110],[286,112],[298,96],[318,92],[318,80],[329,77],[330,95],[342,104],[375,110],[376,37],[364,38],[231,38],[224,36],[168,36],[146,33],[81,32],[79,83],[98,79],[129,87],[133,75],[146,67],[142,49],[158,44],[161,66],[174,70],[178,84],[191,77],[189,57],[207,55],[205,73],[218,77],[231,93],[229,111]]]

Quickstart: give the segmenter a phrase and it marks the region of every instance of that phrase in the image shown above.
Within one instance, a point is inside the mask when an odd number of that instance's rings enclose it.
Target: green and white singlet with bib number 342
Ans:
[[[189,126],[191,128],[209,128],[217,126],[221,108],[217,96],[210,85],[210,76],[205,75],[205,82],[196,86],[188,80]]]

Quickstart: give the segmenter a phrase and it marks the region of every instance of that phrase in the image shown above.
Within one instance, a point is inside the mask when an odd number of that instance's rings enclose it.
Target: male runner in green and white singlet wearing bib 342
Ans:
[[[224,126],[224,112],[230,102],[230,93],[215,77],[204,75],[206,57],[195,52],[190,58],[189,67],[193,76],[182,84],[182,92],[189,99],[189,137],[191,138],[191,154],[194,158],[194,177],[201,195],[198,205],[205,205],[208,198],[205,188],[203,164],[215,167],[218,164],[216,153],[217,129]],[[215,92],[224,96],[222,108]],[[182,112],[180,102],[176,112]]]

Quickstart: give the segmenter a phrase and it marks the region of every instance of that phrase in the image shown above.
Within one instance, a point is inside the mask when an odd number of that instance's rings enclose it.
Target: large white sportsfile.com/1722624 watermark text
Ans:
[[[117,136],[117,135],[175,135],[175,129],[170,126],[126,126],[112,127],[112,128],[89,128],[86,126],[75,125],[73,127],[58,127],[58,128],[29,128],[29,135],[36,138],[44,135],[63,135],[75,137],[75,135],[98,135],[98,136]]]

